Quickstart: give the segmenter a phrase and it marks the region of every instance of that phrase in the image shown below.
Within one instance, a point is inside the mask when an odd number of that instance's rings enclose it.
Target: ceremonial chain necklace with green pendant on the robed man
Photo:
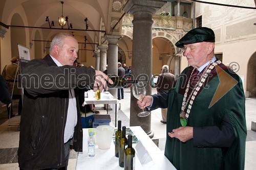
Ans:
[[[183,102],[182,102],[182,106],[181,106],[181,112],[180,112],[180,123],[181,125],[184,127],[187,125],[187,121],[188,121],[188,116],[189,116],[189,113],[190,113],[190,109],[192,108],[192,105],[193,105],[193,102],[196,98],[196,95],[198,94],[198,91],[201,89],[201,87],[203,86],[206,78],[208,77],[208,75],[210,74],[211,70],[217,65],[217,64],[220,64],[221,61],[218,60],[214,63],[212,63],[211,65],[211,61],[212,59],[214,58],[215,56],[213,56],[211,59],[210,59],[210,62],[209,64],[206,66],[206,68],[204,69],[203,71],[203,74],[200,76],[196,86],[193,88],[193,90],[190,92],[188,98],[187,98],[187,93],[188,93],[188,89],[189,89],[189,85],[190,85],[190,78],[191,76],[193,75],[194,71],[195,71],[195,68],[192,70],[191,72],[191,75],[189,77],[189,80],[188,80],[188,83],[187,83],[187,87],[186,87],[186,90],[185,90],[185,94],[184,94],[184,97],[183,97]],[[187,99],[186,99],[187,98]],[[188,108],[187,108],[187,112],[185,112],[185,108],[188,104],[188,101],[189,101],[189,105],[188,105]]]

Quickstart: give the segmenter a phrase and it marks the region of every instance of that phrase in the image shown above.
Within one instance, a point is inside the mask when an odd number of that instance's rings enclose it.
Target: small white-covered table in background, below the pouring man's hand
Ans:
[[[114,98],[111,93],[100,93],[100,100],[96,100],[95,98],[84,98],[83,106],[84,105],[97,105],[97,104],[106,104],[106,114],[108,114],[108,106],[110,105],[111,109],[115,113],[115,127],[116,127],[116,118],[117,112],[119,109],[118,100]]]

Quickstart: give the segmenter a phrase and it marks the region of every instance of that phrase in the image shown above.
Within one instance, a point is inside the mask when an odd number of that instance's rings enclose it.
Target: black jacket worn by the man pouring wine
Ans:
[[[72,81],[69,80],[72,72]],[[21,169],[45,169],[65,166],[64,131],[67,121],[69,89],[94,83],[95,70],[87,67],[58,67],[47,55],[31,60],[22,71],[24,105],[20,118],[18,163]],[[81,75],[87,79],[79,79]],[[34,76],[34,77],[33,77]],[[31,77],[38,80],[33,80]],[[47,77],[50,77],[48,79]],[[52,79],[59,81],[52,81]],[[82,124],[77,101],[77,124],[73,149],[82,152]]]

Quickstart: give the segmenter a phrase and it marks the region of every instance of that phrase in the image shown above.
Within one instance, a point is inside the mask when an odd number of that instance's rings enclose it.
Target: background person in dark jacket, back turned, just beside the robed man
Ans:
[[[175,78],[174,75],[169,72],[169,66],[163,65],[161,68],[162,73],[157,79],[157,92],[162,92],[163,90],[169,90],[173,87]],[[167,118],[167,108],[161,108],[162,120],[161,123],[166,124]]]

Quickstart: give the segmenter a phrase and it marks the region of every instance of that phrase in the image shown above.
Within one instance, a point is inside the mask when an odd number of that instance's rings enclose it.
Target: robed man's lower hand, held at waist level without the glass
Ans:
[[[179,127],[173,130],[173,133],[168,132],[170,137],[176,137],[180,141],[185,142],[193,138],[193,127]]]

